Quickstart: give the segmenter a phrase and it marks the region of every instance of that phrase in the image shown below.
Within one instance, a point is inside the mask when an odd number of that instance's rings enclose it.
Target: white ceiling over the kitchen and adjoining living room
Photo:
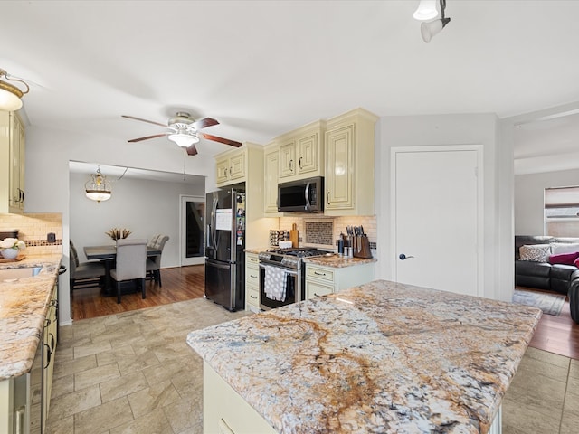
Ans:
[[[0,68],[31,82],[31,125],[125,144],[163,128],[121,115],[184,109],[221,122],[205,133],[266,144],[356,107],[505,118],[579,101],[579,1],[448,0],[431,43],[418,3],[3,1]],[[574,150],[577,118],[519,127],[517,157]]]

